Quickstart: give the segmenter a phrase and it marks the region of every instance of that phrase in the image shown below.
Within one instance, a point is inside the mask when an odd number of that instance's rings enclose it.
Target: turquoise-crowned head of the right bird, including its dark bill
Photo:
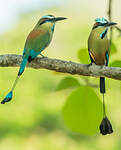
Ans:
[[[114,26],[116,24],[117,23],[115,23],[115,22],[109,22],[105,18],[97,18],[97,19],[95,19],[95,24],[93,26],[93,29],[98,28],[98,27],[108,28],[108,27]]]

